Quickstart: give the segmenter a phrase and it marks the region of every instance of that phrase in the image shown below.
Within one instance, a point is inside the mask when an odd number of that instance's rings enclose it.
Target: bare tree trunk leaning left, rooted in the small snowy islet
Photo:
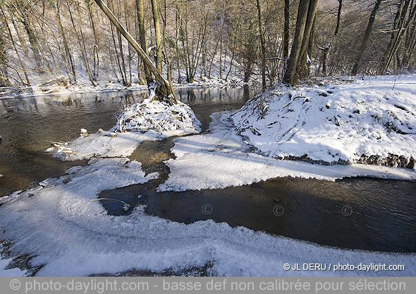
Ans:
[[[136,40],[128,33],[127,30],[123,27],[123,25],[120,23],[118,19],[114,16],[113,12],[108,9],[108,7],[103,3],[102,0],[94,0],[98,7],[103,10],[105,15],[107,15],[108,19],[114,24],[117,30],[125,37],[125,39],[130,43],[130,45],[135,48],[137,55],[141,58],[141,60],[148,66],[148,69],[153,75],[155,76],[156,81],[158,82],[156,94],[157,98],[159,100],[169,100],[172,99],[174,103],[177,103],[177,100],[175,98],[175,93],[173,92],[172,86],[164,80],[162,77],[162,74],[157,70],[153,62],[149,59],[148,55],[144,52],[144,50],[140,47],[139,44],[137,44]],[[150,83],[148,83],[148,86],[150,86]]]

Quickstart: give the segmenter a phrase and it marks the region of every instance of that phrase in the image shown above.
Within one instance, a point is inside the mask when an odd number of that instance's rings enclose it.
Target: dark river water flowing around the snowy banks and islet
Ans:
[[[247,87],[180,89],[177,96],[191,106],[206,131],[211,113],[237,109],[253,93]],[[144,95],[146,92],[107,92],[0,100],[0,196],[59,176],[73,165],[86,164],[61,162],[43,150],[51,140],[73,140],[80,128],[89,133],[110,129],[120,107],[138,102]],[[104,191],[100,197],[132,207],[146,205],[147,214],[182,223],[214,219],[328,246],[416,252],[416,183],[275,178],[222,190],[157,193],[155,187],[169,173],[163,161],[173,158],[172,140],[144,143],[130,156],[146,172],[159,172],[157,180]],[[101,203],[109,214],[130,212],[124,212],[117,201]]]

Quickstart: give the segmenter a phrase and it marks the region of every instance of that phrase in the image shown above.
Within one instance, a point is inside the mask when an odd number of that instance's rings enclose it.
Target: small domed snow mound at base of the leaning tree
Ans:
[[[192,109],[178,101],[169,104],[146,99],[143,102],[126,106],[118,118],[116,131],[146,131],[153,129],[159,133],[184,131],[189,134],[200,131],[200,122]]]

